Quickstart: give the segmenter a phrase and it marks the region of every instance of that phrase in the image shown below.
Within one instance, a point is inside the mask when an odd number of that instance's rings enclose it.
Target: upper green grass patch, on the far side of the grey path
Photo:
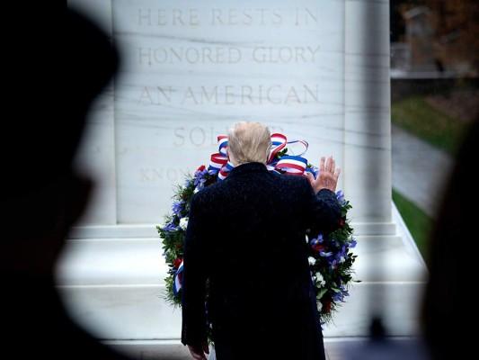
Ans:
[[[391,104],[391,121],[435,148],[456,154],[467,126],[432,107],[425,96],[411,96]]]

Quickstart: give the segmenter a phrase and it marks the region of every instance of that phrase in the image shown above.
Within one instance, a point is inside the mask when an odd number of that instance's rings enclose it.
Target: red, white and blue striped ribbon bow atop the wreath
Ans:
[[[210,157],[208,171],[217,173],[218,181],[224,180],[228,175],[229,171],[235,167],[231,162],[228,161],[226,156],[226,147],[227,147],[227,136],[220,135],[217,137],[218,143],[218,152],[214,153]],[[301,145],[303,151],[299,155],[283,155],[277,157],[279,151],[284,148],[288,148],[288,145]],[[308,143],[306,140],[290,140],[286,138],[283,134],[274,133],[271,134],[271,151],[270,157],[266,162],[266,167],[270,171],[275,171],[280,174],[288,175],[306,175],[306,172],[309,172],[313,175],[315,170],[307,167],[307,160],[303,157],[303,154],[306,153],[308,148]]]

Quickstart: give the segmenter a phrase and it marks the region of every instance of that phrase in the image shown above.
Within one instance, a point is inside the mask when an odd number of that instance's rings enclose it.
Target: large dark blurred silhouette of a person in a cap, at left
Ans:
[[[119,67],[119,53],[67,6],[59,16],[41,17],[33,7],[25,13],[33,14],[29,51],[38,60],[28,58],[23,77],[14,78],[12,87],[4,84],[12,93],[24,91],[4,103],[14,115],[4,119],[1,142],[2,351],[21,358],[126,359],[70,319],[55,283],[68,229],[82,215],[93,185],[75,172],[75,153],[91,103]],[[37,26],[35,16],[42,22],[65,19],[67,25],[52,33],[45,23]]]

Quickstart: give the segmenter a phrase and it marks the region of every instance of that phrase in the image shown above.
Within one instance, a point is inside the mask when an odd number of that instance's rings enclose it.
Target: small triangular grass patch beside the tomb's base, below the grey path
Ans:
[[[411,232],[422,258],[427,261],[430,231],[434,227],[434,220],[413,202],[397,193],[395,189],[393,189],[393,202],[395,202],[397,211],[401,214],[407,229]]]

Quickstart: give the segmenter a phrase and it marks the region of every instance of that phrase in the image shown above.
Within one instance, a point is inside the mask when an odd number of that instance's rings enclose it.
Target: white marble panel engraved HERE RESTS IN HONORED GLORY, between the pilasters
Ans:
[[[118,221],[155,222],[182,172],[235,121],[268,123],[342,163],[343,3],[116,1]]]

